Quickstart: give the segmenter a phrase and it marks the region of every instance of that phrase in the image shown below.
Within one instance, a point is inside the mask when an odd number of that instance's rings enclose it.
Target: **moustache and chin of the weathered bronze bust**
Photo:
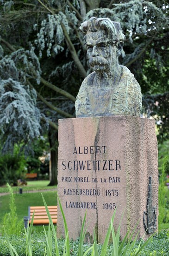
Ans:
[[[92,70],[96,72],[103,72],[107,69],[108,61],[102,56],[91,57],[89,59],[89,65]]]

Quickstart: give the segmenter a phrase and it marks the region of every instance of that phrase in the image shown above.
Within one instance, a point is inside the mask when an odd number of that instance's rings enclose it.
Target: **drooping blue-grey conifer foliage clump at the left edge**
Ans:
[[[5,143],[3,150],[13,148],[14,143],[29,144],[40,136],[40,111],[36,107],[36,92],[11,78],[1,81],[0,128]],[[6,104],[6,102],[8,104]],[[34,115],[34,116],[30,116]],[[15,136],[15,133],[17,136]]]

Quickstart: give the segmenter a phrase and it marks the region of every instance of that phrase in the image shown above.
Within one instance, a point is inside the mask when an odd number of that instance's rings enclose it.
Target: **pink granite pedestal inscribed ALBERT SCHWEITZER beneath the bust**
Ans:
[[[144,212],[147,212],[149,177],[152,207],[158,216],[157,155],[152,119],[123,115],[60,119],[58,196],[69,238],[80,236],[87,209],[87,239],[92,242],[95,229],[98,242],[103,242],[115,207],[115,230],[125,209],[121,237],[127,229],[132,231],[137,222],[136,232],[140,229],[138,238],[142,237],[143,216],[147,225]],[[59,207],[57,236],[64,236]]]

